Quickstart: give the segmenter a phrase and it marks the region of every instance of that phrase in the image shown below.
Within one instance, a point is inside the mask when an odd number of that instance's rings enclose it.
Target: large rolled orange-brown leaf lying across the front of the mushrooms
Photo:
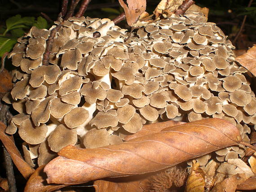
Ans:
[[[238,129],[208,118],[168,127],[128,142],[101,148],[67,146],[44,168],[48,183],[77,184],[106,177],[139,175],[241,142]]]

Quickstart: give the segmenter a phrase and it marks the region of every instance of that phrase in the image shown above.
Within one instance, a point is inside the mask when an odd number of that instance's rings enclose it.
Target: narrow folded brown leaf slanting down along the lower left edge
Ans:
[[[14,141],[11,136],[8,136],[4,133],[5,125],[4,123],[0,122],[0,140],[3,142],[4,147],[12,157],[12,160],[18,170],[21,172],[25,179],[28,179],[30,175],[34,172],[34,169],[29,166],[26,161],[22,158],[21,154],[19,153],[17,147],[14,144]]]

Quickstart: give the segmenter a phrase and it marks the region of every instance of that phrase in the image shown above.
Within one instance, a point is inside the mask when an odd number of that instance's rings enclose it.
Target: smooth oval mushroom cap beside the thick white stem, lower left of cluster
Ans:
[[[82,125],[89,117],[88,110],[82,107],[71,109],[69,113],[64,116],[64,122],[67,127],[73,129]]]

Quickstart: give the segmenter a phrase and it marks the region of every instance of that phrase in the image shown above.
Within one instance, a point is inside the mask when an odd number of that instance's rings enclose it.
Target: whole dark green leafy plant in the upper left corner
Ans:
[[[31,26],[39,29],[47,28],[47,21],[43,17],[21,17],[15,15],[6,20],[5,26],[0,29],[0,58],[4,52],[10,52],[17,39],[24,35]]]

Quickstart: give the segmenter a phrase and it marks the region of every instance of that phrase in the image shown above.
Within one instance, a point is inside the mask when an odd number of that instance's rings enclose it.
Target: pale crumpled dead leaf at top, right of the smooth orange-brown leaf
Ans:
[[[174,13],[183,3],[183,0],[161,0],[154,9],[155,18],[159,18],[164,12]],[[168,17],[168,16],[166,16]]]

